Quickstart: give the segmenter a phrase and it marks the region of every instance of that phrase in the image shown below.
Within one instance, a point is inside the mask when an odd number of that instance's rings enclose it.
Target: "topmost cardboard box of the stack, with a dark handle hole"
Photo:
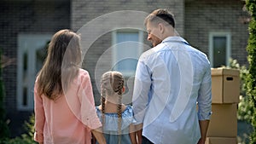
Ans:
[[[212,68],[212,103],[238,103],[240,95],[239,70]]]

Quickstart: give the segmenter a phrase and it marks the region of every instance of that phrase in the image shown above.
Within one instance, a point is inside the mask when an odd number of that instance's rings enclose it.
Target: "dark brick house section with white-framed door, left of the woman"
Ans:
[[[69,0],[3,0],[0,7],[0,49],[12,60],[3,68],[4,107],[15,136],[24,132],[22,125],[33,112],[38,51],[56,31],[70,28],[71,8]]]

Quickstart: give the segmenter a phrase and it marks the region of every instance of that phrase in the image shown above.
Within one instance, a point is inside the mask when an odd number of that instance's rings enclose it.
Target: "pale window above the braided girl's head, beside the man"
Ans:
[[[122,30],[113,32],[113,70],[129,77],[135,74],[137,60],[143,52],[143,32]]]

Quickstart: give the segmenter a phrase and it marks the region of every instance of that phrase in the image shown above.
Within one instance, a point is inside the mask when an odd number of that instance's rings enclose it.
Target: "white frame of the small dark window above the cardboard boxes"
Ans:
[[[230,32],[210,32],[209,33],[209,60],[211,62],[211,66],[213,66],[213,37],[226,37],[227,42],[226,42],[226,66],[230,65],[230,57],[231,57],[231,34]]]

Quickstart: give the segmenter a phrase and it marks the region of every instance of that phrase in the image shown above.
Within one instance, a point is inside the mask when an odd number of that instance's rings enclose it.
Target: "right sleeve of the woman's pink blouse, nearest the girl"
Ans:
[[[101,127],[102,123],[96,114],[89,73],[85,71],[81,80],[81,87],[79,89],[79,101],[81,101],[82,122],[88,128],[90,128],[90,130],[95,130]]]

